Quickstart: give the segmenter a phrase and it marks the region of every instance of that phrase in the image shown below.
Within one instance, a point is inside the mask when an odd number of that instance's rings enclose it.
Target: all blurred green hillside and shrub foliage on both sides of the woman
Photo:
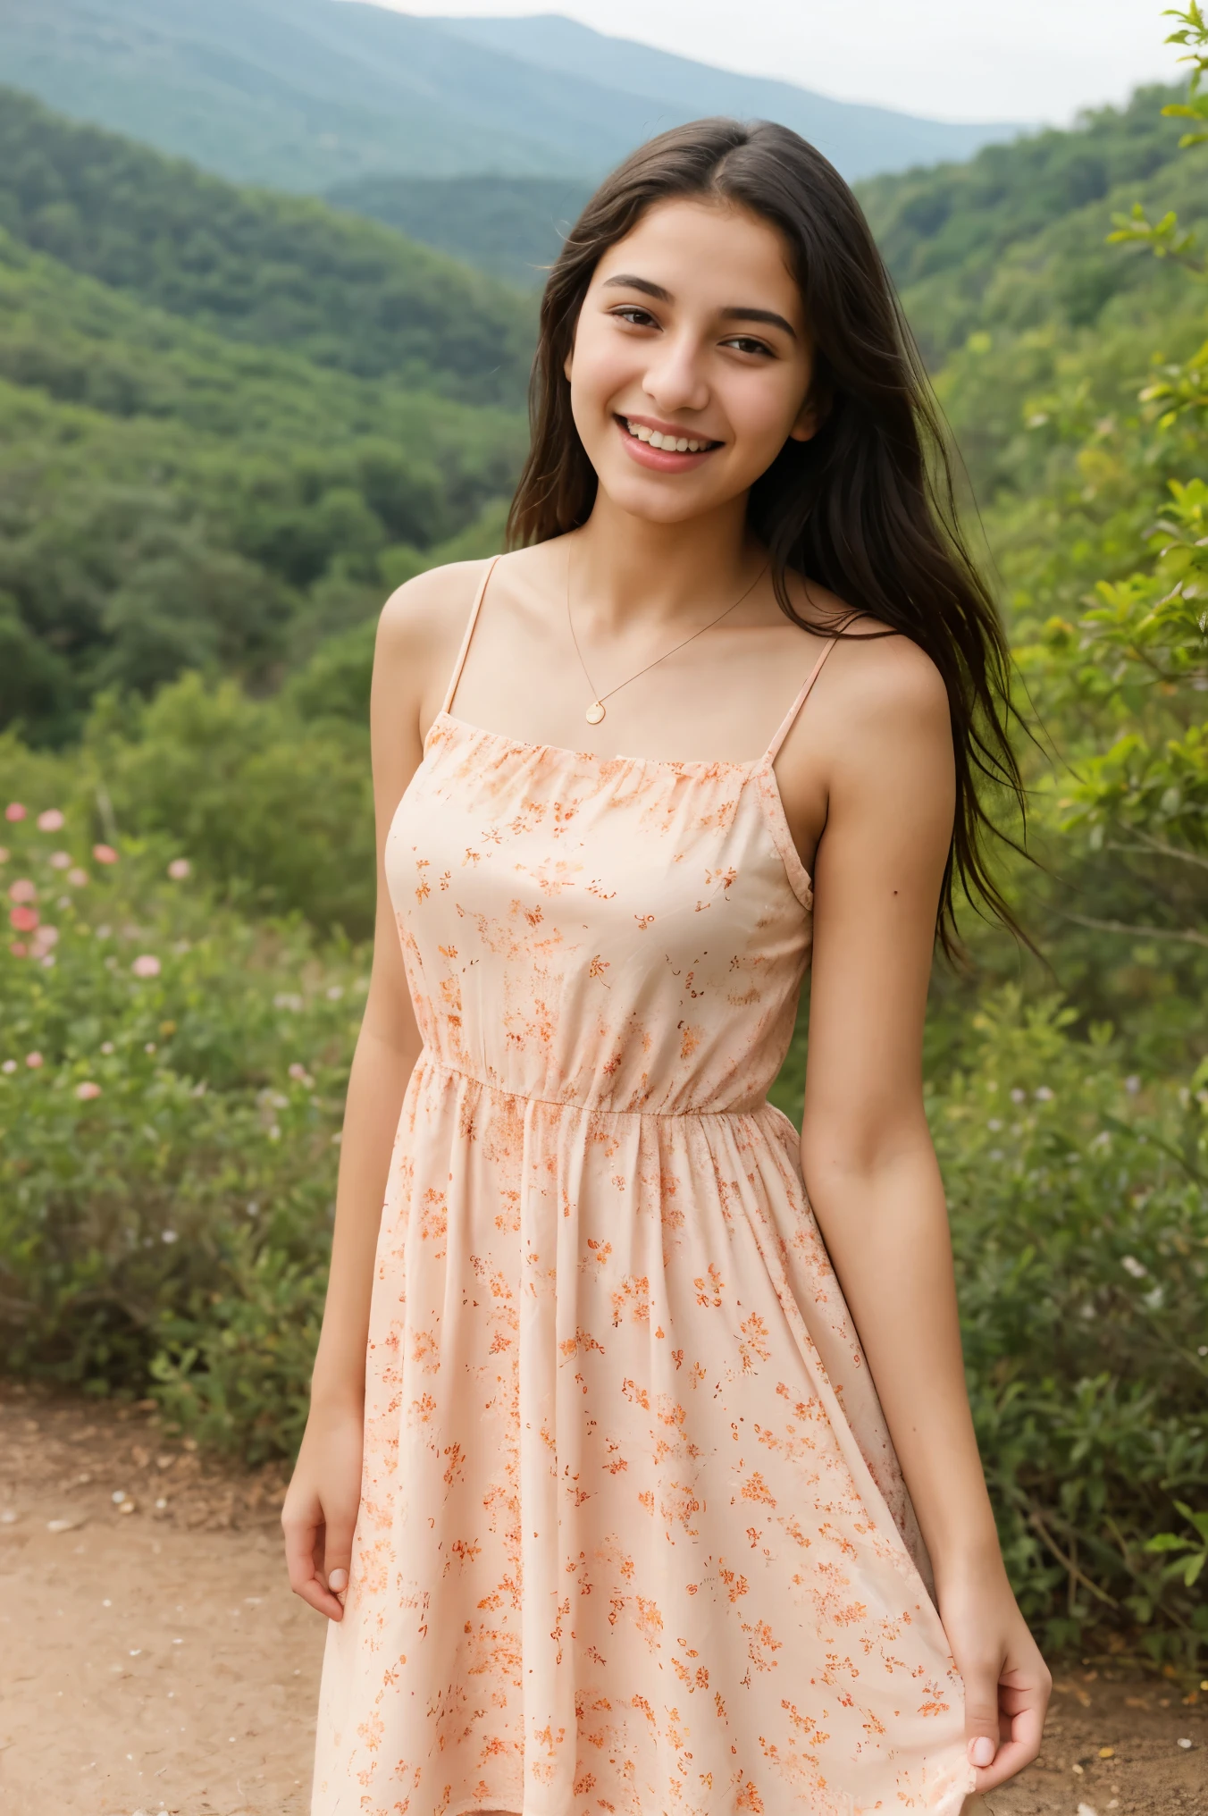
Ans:
[[[1001,863],[1037,950],[966,913],[926,1037],[1003,1542],[1046,1645],[1201,1673],[1204,131],[1193,80],[863,185],[1015,652]],[[5,1353],[289,1453],[372,924],[374,612],[500,547],[532,305],[20,96],[0,143]]]

